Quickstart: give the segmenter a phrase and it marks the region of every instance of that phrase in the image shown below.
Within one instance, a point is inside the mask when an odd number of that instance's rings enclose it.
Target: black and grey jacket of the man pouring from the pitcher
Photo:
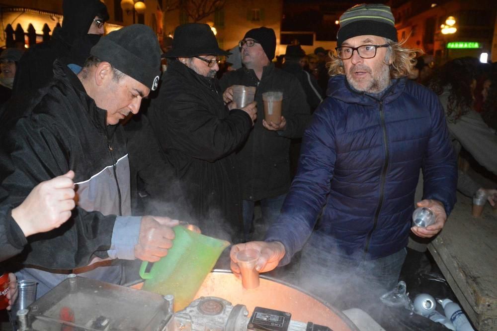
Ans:
[[[106,111],[67,66],[56,61],[54,72],[51,84],[20,105],[22,116],[1,123],[0,260],[22,251],[16,262],[73,269],[108,257],[115,215],[130,213],[129,165],[122,127],[106,125]],[[38,183],[70,169],[79,183],[71,219],[26,240],[12,208]]]

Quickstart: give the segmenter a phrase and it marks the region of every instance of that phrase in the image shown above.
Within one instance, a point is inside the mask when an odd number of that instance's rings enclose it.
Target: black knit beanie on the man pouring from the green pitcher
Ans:
[[[161,47],[150,27],[132,24],[100,38],[90,54],[139,81],[152,91],[161,74]]]

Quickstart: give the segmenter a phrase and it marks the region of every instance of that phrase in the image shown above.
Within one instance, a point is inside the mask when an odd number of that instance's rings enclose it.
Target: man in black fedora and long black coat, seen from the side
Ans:
[[[174,169],[173,215],[198,223],[203,233],[233,241],[242,234],[242,201],[234,152],[248,137],[255,103],[228,109],[215,79],[219,48],[207,24],[183,24],[165,54],[167,71],[148,117]],[[181,203],[183,202],[183,203]]]

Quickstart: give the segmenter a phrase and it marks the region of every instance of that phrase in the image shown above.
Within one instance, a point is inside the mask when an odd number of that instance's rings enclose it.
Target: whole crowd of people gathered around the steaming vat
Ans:
[[[488,153],[496,67],[456,59],[429,88],[415,82],[421,51],[398,40],[387,5],[348,9],[334,52],[289,45],[281,68],[271,28],[240,31],[227,52],[207,24],[183,24],[163,53],[145,25],[101,36],[99,0],[63,9],[50,42],[0,55],[0,84],[13,87],[0,111],[0,262],[12,272],[11,304],[16,277],[36,280],[38,297],[70,273],[125,284],[134,263],[167,254],[177,220],[234,243],[234,273],[243,248],[261,252],[260,272],[302,251],[301,285],[346,304],[341,295],[397,284],[410,233],[440,232],[456,188],[485,190],[495,203],[496,190],[458,176],[456,157],[464,148],[497,174]],[[221,56],[235,70],[218,79]],[[237,105],[235,85],[255,87],[254,101]],[[275,91],[278,122],[264,118],[262,100]],[[412,226],[414,202],[434,211],[434,224]],[[256,203],[263,235],[253,231]]]

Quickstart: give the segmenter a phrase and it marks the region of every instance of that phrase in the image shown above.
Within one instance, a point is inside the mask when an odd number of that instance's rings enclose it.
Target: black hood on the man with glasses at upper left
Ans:
[[[97,14],[104,20],[108,19],[107,7],[100,0],[64,0],[62,4],[64,20],[60,33],[66,43],[88,33],[88,29]]]

